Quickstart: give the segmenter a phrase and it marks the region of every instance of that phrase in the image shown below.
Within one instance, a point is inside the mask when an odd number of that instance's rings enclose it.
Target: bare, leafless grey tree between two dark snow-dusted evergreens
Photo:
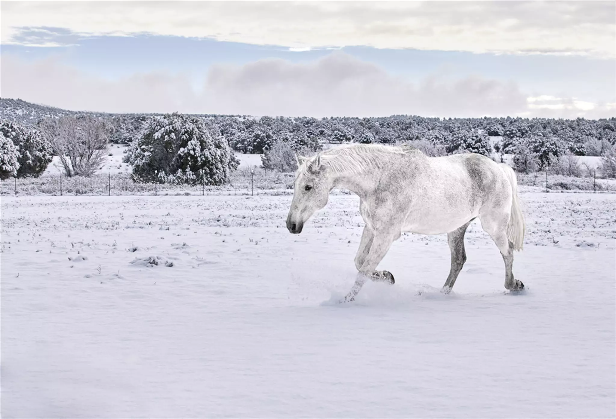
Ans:
[[[93,116],[62,116],[41,122],[41,132],[60,158],[68,177],[90,177],[105,162],[110,129]]]

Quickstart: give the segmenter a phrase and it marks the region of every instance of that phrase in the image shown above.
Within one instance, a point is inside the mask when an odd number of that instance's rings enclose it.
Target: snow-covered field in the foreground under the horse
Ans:
[[[408,234],[338,305],[354,196],[299,236],[290,196],[2,197],[2,417],[614,417],[614,195],[522,198],[524,295],[473,224],[452,295]]]

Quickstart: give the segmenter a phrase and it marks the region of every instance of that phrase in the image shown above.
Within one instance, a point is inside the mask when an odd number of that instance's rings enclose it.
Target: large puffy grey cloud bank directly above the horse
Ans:
[[[217,66],[206,86],[210,100],[224,113],[484,116],[519,113],[526,105],[513,83],[433,77],[413,84],[339,52],[309,65],[262,60]]]

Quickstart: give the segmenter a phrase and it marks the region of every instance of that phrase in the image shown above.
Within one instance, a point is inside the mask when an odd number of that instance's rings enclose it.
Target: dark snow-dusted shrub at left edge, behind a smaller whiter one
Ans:
[[[2,122],[0,132],[17,147],[19,169],[17,177],[39,177],[52,160],[51,144],[37,130]]]

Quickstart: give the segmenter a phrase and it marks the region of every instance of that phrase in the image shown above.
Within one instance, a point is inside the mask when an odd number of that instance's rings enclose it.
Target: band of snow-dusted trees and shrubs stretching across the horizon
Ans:
[[[604,177],[616,175],[616,118],[73,113],[31,127],[1,122],[0,178],[39,176],[54,155],[67,176],[89,176],[102,166],[110,143],[129,146],[124,162],[131,164],[136,182],[221,185],[238,166],[234,152],[263,154],[265,168],[291,171],[296,153],[314,153],[325,143],[407,143],[429,156],[472,152],[502,159],[513,154],[519,172],[549,169],[569,175],[580,169],[576,156],[602,156]]]

